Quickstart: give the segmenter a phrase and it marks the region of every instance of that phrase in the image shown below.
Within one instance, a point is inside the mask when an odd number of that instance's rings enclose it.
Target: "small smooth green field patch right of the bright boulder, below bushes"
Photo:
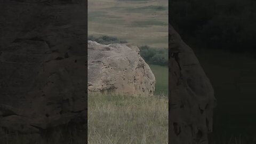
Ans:
[[[156,77],[155,95],[167,95],[168,93],[168,67],[149,65]]]

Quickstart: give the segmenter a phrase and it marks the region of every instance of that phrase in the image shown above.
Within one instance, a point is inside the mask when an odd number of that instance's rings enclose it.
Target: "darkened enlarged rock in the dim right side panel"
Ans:
[[[169,49],[169,143],[207,144],[216,105],[212,85],[172,26]]]

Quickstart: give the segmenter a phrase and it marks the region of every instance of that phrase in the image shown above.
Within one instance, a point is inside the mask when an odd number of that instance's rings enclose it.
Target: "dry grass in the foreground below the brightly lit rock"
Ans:
[[[166,97],[90,94],[88,143],[167,143]]]

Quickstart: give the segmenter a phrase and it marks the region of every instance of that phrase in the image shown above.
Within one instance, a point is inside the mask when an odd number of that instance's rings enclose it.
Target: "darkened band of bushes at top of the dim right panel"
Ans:
[[[171,25],[196,47],[256,51],[256,1],[172,0]]]

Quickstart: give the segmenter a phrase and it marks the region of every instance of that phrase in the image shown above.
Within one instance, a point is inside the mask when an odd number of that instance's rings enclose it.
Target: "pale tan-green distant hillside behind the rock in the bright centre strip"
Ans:
[[[168,47],[168,1],[89,0],[88,35],[108,35],[138,46]]]

